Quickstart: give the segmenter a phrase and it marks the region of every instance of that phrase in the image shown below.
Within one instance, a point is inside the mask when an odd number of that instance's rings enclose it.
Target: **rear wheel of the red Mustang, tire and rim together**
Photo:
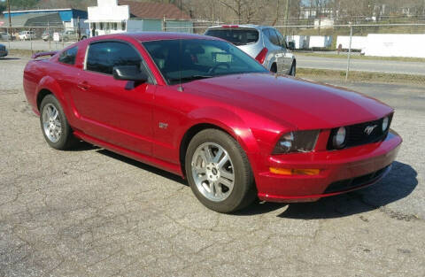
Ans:
[[[44,139],[54,149],[66,150],[76,142],[65,112],[53,95],[47,95],[42,99],[40,125]]]

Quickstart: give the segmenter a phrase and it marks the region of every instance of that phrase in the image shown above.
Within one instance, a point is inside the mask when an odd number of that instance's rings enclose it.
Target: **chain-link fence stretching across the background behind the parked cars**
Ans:
[[[257,22],[260,23],[261,22]],[[205,34],[209,27],[236,26],[197,20],[192,26],[163,24],[165,32]],[[265,24],[261,24],[265,25]],[[277,25],[289,53],[295,55],[298,76],[327,81],[403,81],[425,85],[425,22],[339,24],[332,26]],[[90,31],[64,27],[0,28],[8,49],[61,50],[89,37]]]

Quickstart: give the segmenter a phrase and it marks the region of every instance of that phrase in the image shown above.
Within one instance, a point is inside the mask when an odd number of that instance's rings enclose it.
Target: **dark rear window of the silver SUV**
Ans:
[[[206,31],[205,35],[219,37],[235,45],[246,45],[259,41],[259,31],[251,28],[213,28]]]

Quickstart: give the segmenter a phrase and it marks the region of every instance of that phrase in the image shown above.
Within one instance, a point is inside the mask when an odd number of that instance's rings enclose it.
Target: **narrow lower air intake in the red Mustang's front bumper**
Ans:
[[[325,190],[324,194],[341,192],[344,190],[355,189],[357,187],[367,185],[368,183],[377,181],[383,177],[383,174],[386,173],[386,171],[389,169],[390,165],[387,165],[383,167],[383,169],[375,171],[374,173],[368,173],[363,176],[333,182],[328,186],[328,189]]]

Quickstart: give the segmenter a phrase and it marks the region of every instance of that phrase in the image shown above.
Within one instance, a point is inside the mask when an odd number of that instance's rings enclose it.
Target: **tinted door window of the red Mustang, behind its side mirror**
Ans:
[[[142,68],[142,58],[125,42],[96,42],[89,46],[86,69],[112,74],[114,66],[136,65]]]

